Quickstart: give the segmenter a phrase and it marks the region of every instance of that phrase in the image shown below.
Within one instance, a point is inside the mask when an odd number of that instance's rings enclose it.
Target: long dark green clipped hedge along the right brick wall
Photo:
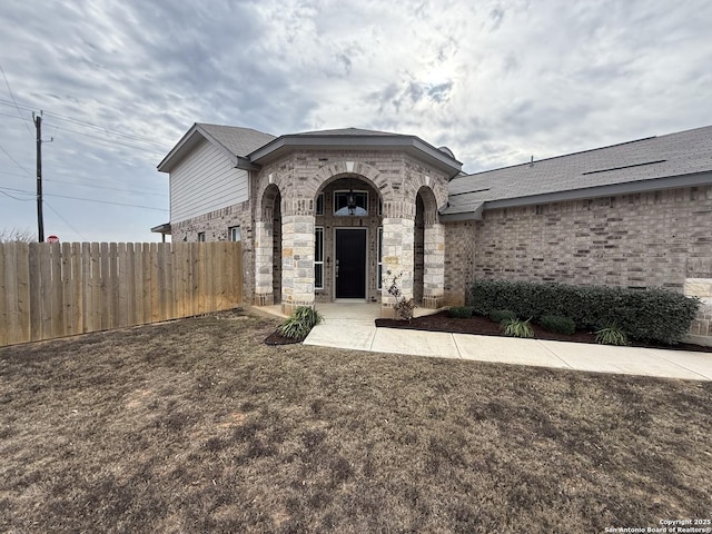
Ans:
[[[558,315],[580,328],[616,324],[631,339],[674,344],[690,329],[700,301],[665,289],[475,280],[474,312],[511,309],[518,317]]]

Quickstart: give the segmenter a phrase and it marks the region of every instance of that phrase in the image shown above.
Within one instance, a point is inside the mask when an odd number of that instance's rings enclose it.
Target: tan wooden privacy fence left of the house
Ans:
[[[236,307],[239,243],[0,244],[0,346]]]

